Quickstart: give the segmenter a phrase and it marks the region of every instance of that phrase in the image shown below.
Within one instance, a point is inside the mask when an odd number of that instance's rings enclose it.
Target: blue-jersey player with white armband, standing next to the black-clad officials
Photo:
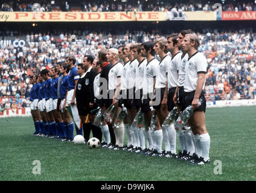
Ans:
[[[68,74],[68,87],[66,92],[66,98],[63,104],[63,109],[65,109],[66,107],[68,108],[69,113],[71,114],[75,122],[76,133],[82,135],[83,130],[80,129],[80,118],[78,115],[78,110],[75,102],[75,87],[79,79],[79,75],[77,74],[77,68],[75,67],[76,59],[75,57],[71,56],[71,57],[68,57],[67,61],[68,61],[67,65],[70,68],[70,71]],[[69,130],[68,136],[72,141],[74,138],[73,131]]]

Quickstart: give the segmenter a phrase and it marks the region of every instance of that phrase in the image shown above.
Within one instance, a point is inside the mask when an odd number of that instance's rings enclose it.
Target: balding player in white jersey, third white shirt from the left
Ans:
[[[124,54],[126,57],[129,58],[130,63],[129,66],[126,68],[126,96],[127,99],[125,100],[126,103],[124,103],[124,106],[127,108],[128,116],[130,124],[132,124],[133,119],[136,116],[136,107],[135,107],[135,74],[136,74],[136,68],[138,66],[138,60],[134,59],[132,55],[132,48],[134,44],[128,43],[124,47]],[[137,147],[137,141],[136,138],[138,138],[138,135],[136,135],[136,131],[133,131],[132,125],[130,126],[131,136],[132,136],[132,147],[128,151],[135,151]],[[133,148],[134,147],[134,148]]]

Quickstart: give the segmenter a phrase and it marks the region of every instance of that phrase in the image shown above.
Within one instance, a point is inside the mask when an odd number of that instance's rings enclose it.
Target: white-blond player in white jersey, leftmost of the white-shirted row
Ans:
[[[117,107],[114,118],[112,120],[112,125],[114,125],[115,118],[117,118],[118,113],[120,112],[120,107],[118,107],[118,98],[120,95],[120,79],[121,73],[123,70],[123,65],[119,62],[118,49],[110,48],[107,49],[107,61],[110,62],[111,68],[109,71],[109,100],[112,100],[112,104]],[[114,128],[115,141],[116,143],[109,148],[121,148],[124,145],[124,128],[120,127],[118,129]]]

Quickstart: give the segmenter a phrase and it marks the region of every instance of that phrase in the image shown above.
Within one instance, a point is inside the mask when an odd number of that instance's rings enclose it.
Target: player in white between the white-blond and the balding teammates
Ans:
[[[127,96],[126,96],[126,70],[127,67],[129,66],[130,60],[124,54],[124,46],[120,46],[118,48],[118,55],[121,60],[123,60],[123,69],[121,73],[121,78],[120,78],[120,99],[118,102],[118,106],[121,107],[122,104],[126,104]],[[129,124],[127,121],[127,118],[124,119],[124,129],[126,130],[126,135],[127,135],[127,145],[124,145],[122,150],[127,150],[128,148],[131,147],[132,145],[132,136],[130,135],[129,131]]]

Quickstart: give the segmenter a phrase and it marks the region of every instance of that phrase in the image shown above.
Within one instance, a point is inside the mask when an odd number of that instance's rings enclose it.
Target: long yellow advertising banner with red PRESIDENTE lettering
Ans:
[[[165,21],[165,12],[0,12],[0,22]]]

